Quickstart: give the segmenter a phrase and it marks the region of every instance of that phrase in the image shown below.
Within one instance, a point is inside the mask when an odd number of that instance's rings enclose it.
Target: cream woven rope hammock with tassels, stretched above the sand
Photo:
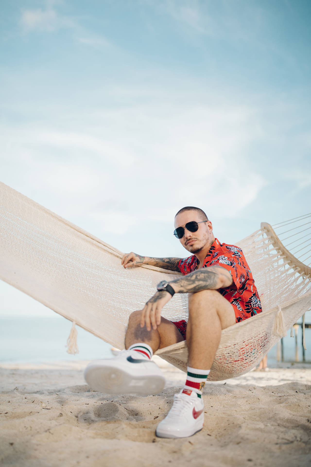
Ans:
[[[209,381],[247,373],[311,307],[308,257],[310,214],[261,229],[236,243],[246,256],[263,313],[224,329]],[[299,225],[298,225],[299,224]],[[302,230],[301,230],[302,227]],[[279,236],[276,230],[282,231]],[[296,258],[283,245],[300,252]],[[0,183],[0,278],[48,308],[105,340],[124,348],[128,317],[144,307],[160,280],[179,273],[143,265],[124,269],[123,255],[54,212]],[[162,315],[187,320],[187,294],[175,294]],[[75,352],[75,340],[69,341]],[[187,371],[185,342],[157,355]]]

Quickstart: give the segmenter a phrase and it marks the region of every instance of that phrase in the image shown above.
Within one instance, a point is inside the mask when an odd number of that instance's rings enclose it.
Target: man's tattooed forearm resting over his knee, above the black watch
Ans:
[[[200,290],[217,290],[229,287],[232,284],[232,276],[229,271],[221,266],[210,266],[198,269],[187,276],[180,277],[170,285],[175,292],[199,292]]]

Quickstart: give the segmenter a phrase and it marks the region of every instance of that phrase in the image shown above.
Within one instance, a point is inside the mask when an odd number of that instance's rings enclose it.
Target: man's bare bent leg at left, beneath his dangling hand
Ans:
[[[145,342],[152,351],[155,352],[159,348],[171,346],[183,339],[177,327],[168,319],[161,318],[161,324],[158,329],[147,331],[146,326],[140,327],[141,311],[134,311],[129,318],[129,325],[125,335],[125,348],[129,348],[137,342]]]

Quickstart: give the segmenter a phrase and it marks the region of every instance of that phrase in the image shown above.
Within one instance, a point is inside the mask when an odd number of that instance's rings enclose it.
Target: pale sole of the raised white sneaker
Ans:
[[[104,394],[159,394],[164,389],[165,378],[161,375],[131,375],[122,368],[90,364],[84,372],[90,388]]]

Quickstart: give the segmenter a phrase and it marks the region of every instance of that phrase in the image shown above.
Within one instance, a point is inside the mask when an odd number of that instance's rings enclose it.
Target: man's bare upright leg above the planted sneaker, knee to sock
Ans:
[[[217,290],[189,294],[188,366],[210,369],[219,346],[221,330],[234,324],[233,306]]]

